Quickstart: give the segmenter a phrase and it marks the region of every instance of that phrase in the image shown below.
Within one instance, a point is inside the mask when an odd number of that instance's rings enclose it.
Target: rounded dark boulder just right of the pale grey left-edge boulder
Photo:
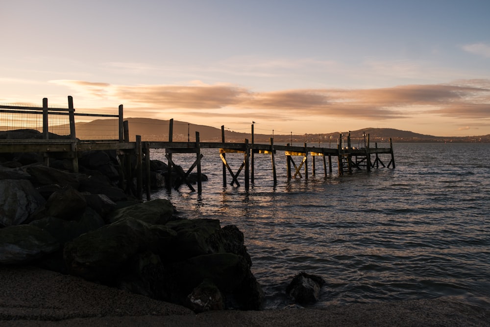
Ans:
[[[71,186],[65,186],[51,194],[46,203],[49,216],[65,220],[77,220],[86,207],[85,197]]]

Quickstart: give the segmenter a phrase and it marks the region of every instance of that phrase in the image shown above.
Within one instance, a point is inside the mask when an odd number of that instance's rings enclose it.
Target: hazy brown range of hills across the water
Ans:
[[[169,120],[150,119],[150,118],[127,118],[129,124],[129,139],[134,141],[136,135],[141,135],[143,141],[169,141]],[[76,134],[80,138],[82,135],[90,135],[90,139],[114,139],[117,138],[117,120],[95,120],[89,123],[76,124]],[[97,133],[94,134],[94,131]],[[196,141],[196,131],[199,132],[201,142],[221,142],[221,129],[205,125],[196,125],[187,122],[173,121],[172,141],[190,142]],[[306,135],[274,134],[274,143],[317,143],[332,142],[337,143],[339,134],[347,136],[349,131],[331,132]],[[468,136],[468,137],[442,137],[418,134],[411,131],[399,130],[394,128],[364,128],[350,131],[351,138],[363,138],[369,135],[371,142],[388,141],[392,138],[393,142],[490,142],[490,135]],[[251,134],[224,130],[226,142],[244,142],[248,139],[251,142]],[[255,143],[269,143],[271,134],[254,133]]]

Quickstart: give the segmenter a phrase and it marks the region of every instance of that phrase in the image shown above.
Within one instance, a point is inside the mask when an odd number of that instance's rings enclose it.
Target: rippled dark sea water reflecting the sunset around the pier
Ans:
[[[267,308],[291,304],[285,288],[300,271],[326,280],[319,306],[441,296],[489,306],[490,145],[393,148],[394,170],[338,176],[333,158],[334,172],[324,176],[317,159],[317,176],[291,181],[278,153],[275,188],[270,156],[256,154],[248,192],[244,172],[241,187],[222,186],[219,153],[207,150],[202,173],[209,181],[200,196],[187,187],[152,196],[172,201],[182,217],[237,225]],[[187,170],[195,155],[173,158]],[[165,161],[164,151],[152,152],[152,159]],[[227,159],[236,172],[243,155]],[[388,164],[390,157],[382,159]]]

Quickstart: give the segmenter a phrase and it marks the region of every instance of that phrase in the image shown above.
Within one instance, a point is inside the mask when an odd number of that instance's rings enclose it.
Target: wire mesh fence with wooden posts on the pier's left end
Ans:
[[[0,103],[0,139],[123,141],[123,105],[116,114],[79,112],[68,106]]]

